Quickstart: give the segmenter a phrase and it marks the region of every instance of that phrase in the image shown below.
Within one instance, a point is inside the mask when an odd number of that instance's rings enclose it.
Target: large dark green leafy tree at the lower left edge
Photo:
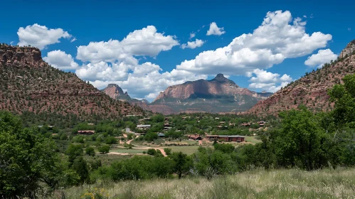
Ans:
[[[40,182],[54,187],[59,158],[55,143],[20,119],[0,112],[0,198],[34,197]]]

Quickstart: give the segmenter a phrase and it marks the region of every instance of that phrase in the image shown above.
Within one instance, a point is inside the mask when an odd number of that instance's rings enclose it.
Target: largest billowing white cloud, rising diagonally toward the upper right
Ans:
[[[266,69],[286,58],[309,55],[324,48],[332,35],[306,33],[306,22],[292,18],[290,11],[268,12],[253,33],[243,34],[225,47],[207,50],[193,60],[184,60],[177,70],[196,74],[250,75],[255,69]]]

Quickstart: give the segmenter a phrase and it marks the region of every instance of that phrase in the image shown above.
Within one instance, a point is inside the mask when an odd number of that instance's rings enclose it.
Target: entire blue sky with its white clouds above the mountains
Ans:
[[[64,0],[1,6],[1,43],[34,45],[48,63],[95,87],[117,83],[132,97],[149,100],[169,85],[218,72],[240,87],[275,92],[336,58],[355,39],[354,1]]]

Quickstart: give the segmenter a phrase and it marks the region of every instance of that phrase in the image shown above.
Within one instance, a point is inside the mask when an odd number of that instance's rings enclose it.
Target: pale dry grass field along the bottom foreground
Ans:
[[[152,181],[99,182],[58,190],[47,198],[354,198],[355,169],[321,171],[258,169],[231,176],[157,179]],[[85,197],[83,197],[85,198]],[[97,198],[97,197],[96,197]]]

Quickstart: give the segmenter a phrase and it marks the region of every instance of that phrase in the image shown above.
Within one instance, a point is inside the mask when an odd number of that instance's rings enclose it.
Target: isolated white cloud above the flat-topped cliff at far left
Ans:
[[[72,38],[72,36],[62,28],[50,29],[37,23],[26,28],[20,27],[17,31],[18,45],[32,45],[40,50],[46,48],[47,45],[60,43],[60,38]]]

